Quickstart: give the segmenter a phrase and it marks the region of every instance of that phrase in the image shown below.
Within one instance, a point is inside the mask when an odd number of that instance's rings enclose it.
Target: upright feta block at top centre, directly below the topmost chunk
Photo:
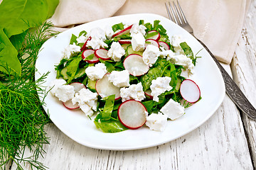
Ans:
[[[134,51],[143,51],[145,48],[146,39],[142,33],[137,33],[132,35],[132,50]]]

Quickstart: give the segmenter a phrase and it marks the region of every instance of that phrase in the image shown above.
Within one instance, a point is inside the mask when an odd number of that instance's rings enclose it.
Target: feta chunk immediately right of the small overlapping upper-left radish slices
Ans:
[[[107,52],[107,56],[110,57],[115,62],[121,61],[122,56],[125,54],[124,48],[119,44],[119,42],[112,42],[110,50]]]

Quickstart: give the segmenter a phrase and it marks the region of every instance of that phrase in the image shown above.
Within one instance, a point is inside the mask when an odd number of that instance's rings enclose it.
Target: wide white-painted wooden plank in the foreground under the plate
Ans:
[[[50,145],[45,145],[44,159],[38,161],[49,169],[253,169],[240,113],[228,96],[201,127],[149,149],[92,149],[70,140],[53,124],[46,132]]]

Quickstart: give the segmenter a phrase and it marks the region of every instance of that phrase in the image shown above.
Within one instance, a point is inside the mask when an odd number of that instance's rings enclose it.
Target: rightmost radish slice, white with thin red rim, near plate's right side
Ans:
[[[201,96],[201,91],[198,85],[191,79],[185,79],[180,87],[181,96],[189,103],[196,103]]]

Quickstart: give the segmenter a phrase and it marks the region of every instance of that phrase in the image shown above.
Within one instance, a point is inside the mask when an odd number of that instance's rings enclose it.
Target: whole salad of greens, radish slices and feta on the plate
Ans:
[[[50,92],[103,132],[162,131],[201,99],[189,79],[197,58],[181,35],[169,38],[160,21],[82,30],[55,66]]]

